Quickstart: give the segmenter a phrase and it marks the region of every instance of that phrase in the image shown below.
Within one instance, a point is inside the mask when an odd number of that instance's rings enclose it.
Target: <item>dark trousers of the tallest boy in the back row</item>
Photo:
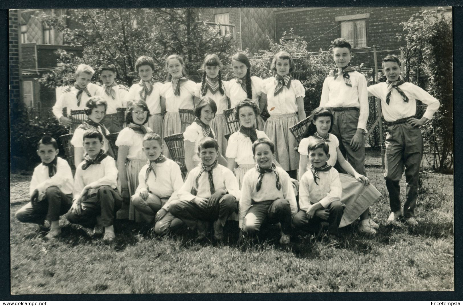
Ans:
[[[357,132],[358,116],[360,109],[358,108],[330,108],[333,113],[333,127],[331,133],[338,137],[339,150],[347,159],[349,164],[354,167],[359,174],[366,176],[365,171],[365,136],[362,134],[362,144],[357,151],[350,147],[350,140]],[[337,163],[336,169],[340,173],[345,173]]]

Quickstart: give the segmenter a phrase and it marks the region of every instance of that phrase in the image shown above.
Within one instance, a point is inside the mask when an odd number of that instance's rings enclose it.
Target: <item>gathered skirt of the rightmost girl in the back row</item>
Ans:
[[[275,158],[285,171],[297,170],[299,153],[294,148],[298,146],[289,128],[298,122],[296,113],[271,115],[263,131],[275,145]]]

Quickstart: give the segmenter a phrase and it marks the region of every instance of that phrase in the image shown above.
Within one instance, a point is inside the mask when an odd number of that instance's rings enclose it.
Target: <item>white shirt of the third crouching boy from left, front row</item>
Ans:
[[[166,159],[163,163],[156,165],[156,176],[154,172],[150,172],[148,181],[145,183],[146,169],[148,165],[144,165],[138,173],[139,185],[135,193],[140,189],[148,189],[152,194],[158,198],[169,198],[174,191],[178,191],[183,185],[183,178],[181,178],[180,166],[177,165],[172,159]]]

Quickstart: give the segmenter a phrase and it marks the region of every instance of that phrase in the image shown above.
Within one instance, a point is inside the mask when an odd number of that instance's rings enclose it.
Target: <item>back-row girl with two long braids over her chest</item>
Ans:
[[[228,108],[229,100],[225,95],[225,88],[228,87],[228,82],[222,81],[222,68],[223,65],[216,54],[207,55],[203,63],[203,81],[196,84],[194,95],[197,98],[203,96],[209,97],[217,103],[217,112],[210,125],[217,137],[219,152],[224,156],[227,148],[227,141],[224,135],[228,133],[224,110]]]

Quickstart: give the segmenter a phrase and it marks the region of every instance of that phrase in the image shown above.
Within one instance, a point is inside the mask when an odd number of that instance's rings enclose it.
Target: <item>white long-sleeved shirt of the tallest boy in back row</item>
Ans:
[[[360,72],[349,72],[352,87],[344,83],[342,75],[326,77],[320,98],[320,107],[357,107],[360,108],[357,128],[366,131],[369,115],[367,80]]]

